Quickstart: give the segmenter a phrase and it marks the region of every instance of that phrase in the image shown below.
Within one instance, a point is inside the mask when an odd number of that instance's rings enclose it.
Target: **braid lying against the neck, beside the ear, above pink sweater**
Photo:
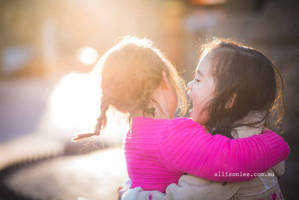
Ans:
[[[143,116],[145,116],[144,112],[146,112],[154,117],[155,116],[155,108],[147,107],[151,100],[151,94],[152,94],[151,82],[152,81],[150,81],[149,75],[146,75],[144,77],[144,89],[142,90],[142,93],[141,93],[141,108],[143,109]]]

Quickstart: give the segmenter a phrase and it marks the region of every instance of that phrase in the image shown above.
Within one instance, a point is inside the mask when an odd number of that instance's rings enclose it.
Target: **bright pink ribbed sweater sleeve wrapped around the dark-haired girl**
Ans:
[[[172,170],[233,183],[250,181],[254,173],[266,172],[289,155],[288,144],[274,132],[229,139],[207,134],[189,118],[172,120],[162,131],[159,148]]]

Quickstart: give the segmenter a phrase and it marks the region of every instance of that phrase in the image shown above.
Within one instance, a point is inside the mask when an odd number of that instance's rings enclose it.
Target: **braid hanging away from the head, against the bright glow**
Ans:
[[[101,113],[100,116],[97,118],[97,124],[95,125],[94,132],[93,133],[83,133],[83,134],[77,134],[76,137],[72,138],[72,140],[81,140],[86,137],[91,137],[94,135],[100,135],[100,130],[103,127],[106,126],[107,123],[107,117],[106,117],[106,111],[109,108],[109,103],[106,102],[106,99],[104,96],[101,97]]]

